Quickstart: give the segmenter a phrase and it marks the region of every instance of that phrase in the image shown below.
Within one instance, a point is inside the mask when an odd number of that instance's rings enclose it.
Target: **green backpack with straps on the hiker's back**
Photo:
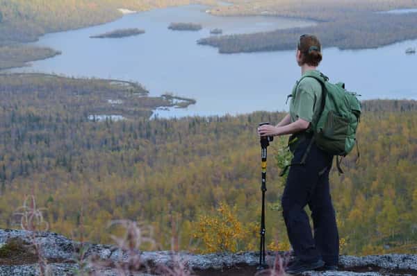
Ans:
[[[322,85],[322,101],[320,112],[316,118],[313,118],[308,130],[313,133],[313,139],[302,157],[302,162],[296,165],[305,163],[311,144],[316,141],[318,148],[336,155],[337,169],[339,173],[343,173],[340,166],[341,159],[337,156],[345,157],[357,144],[356,132],[361,117],[361,103],[357,98],[359,95],[348,92],[344,83],[329,83],[329,78],[316,70],[306,72],[300,81],[303,78],[318,80]],[[290,166],[292,165],[295,164]],[[281,175],[284,175],[286,169]]]

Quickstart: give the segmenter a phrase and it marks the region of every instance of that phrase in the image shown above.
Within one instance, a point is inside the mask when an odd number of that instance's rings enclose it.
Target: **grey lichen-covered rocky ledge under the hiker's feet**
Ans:
[[[277,256],[283,258],[284,253],[268,252],[271,267],[277,263]],[[114,245],[81,245],[52,232],[0,230],[1,276],[41,275],[41,270],[49,275],[281,275],[257,272],[258,260],[256,252],[128,252]],[[341,256],[338,271],[311,271],[304,275],[414,276],[417,255]]]

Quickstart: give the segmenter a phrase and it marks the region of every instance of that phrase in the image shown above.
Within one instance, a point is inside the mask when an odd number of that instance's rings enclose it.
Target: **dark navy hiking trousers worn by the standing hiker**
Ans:
[[[300,141],[292,164],[300,163],[310,139]],[[322,259],[327,265],[338,264],[339,239],[336,215],[329,189],[329,171],[333,156],[311,145],[304,165],[291,166],[281,205],[288,238],[302,261]],[[304,207],[309,205],[314,236]]]

